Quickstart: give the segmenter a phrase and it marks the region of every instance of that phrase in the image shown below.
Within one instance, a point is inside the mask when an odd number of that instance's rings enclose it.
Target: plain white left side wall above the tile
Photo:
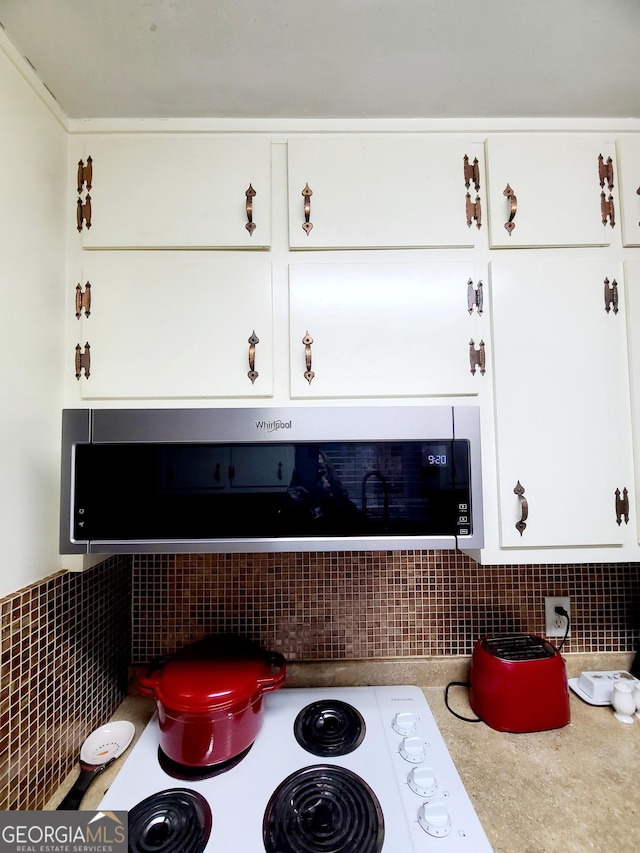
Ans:
[[[60,568],[67,133],[0,33],[0,597]],[[42,92],[42,94],[40,94]],[[75,181],[75,178],[73,178]]]

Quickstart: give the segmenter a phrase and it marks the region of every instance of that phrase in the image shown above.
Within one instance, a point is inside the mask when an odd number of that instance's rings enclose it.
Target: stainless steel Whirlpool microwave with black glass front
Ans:
[[[481,548],[475,406],[65,409],[60,551]]]

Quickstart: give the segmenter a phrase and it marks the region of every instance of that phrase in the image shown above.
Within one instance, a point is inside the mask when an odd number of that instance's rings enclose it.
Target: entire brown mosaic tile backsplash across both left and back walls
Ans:
[[[470,654],[485,632],[544,632],[571,596],[565,650],[632,651],[640,564],[478,566],[450,551],[111,558],[0,600],[0,809],[39,809],[126,695],[129,663],[213,633],[290,660]]]

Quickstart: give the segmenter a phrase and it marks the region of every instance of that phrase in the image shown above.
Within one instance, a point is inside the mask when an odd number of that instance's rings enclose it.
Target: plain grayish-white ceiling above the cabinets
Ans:
[[[69,118],[639,117],[640,0],[0,0]]]

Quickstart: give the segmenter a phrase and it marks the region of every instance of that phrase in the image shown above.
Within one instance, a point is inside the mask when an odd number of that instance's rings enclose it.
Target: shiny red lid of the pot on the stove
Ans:
[[[244,706],[284,682],[284,660],[175,657],[141,684],[167,708],[186,713]],[[239,710],[239,709],[238,709]]]

